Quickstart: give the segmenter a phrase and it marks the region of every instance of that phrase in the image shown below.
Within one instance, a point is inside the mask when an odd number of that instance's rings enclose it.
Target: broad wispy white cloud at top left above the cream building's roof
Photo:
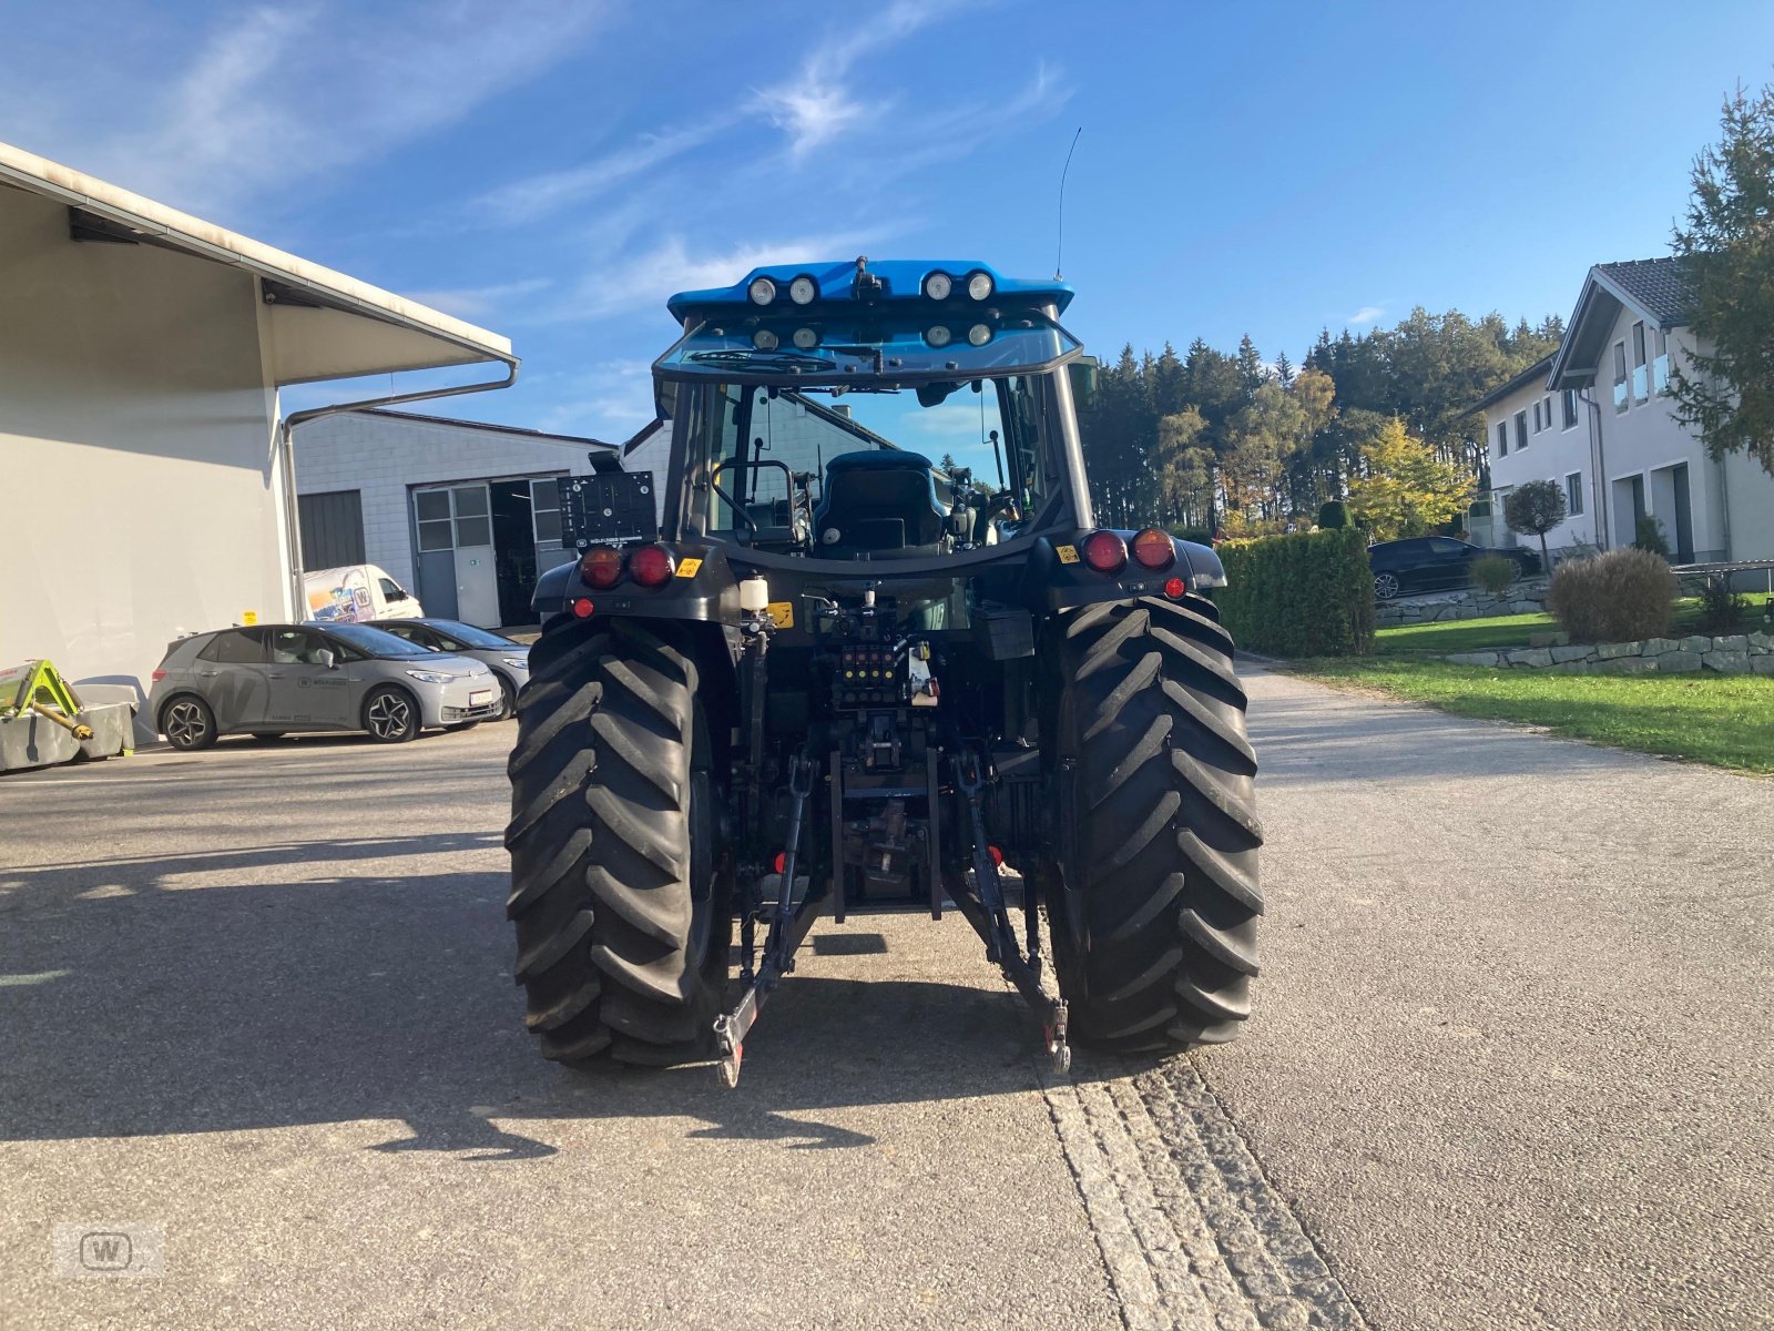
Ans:
[[[78,165],[195,211],[239,206],[454,124],[561,60],[601,5],[465,4],[222,9],[131,130],[94,133]],[[390,51],[399,59],[390,60]]]

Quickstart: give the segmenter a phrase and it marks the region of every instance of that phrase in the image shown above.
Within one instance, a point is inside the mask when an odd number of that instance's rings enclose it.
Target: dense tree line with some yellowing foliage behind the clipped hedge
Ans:
[[[1098,520],[1256,534],[1306,527],[1346,499],[1377,536],[1448,522],[1485,461],[1472,403],[1558,346],[1556,316],[1414,309],[1393,328],[1329,330],[1299,367],[1196,339],[1178,357],[1121,348],[1079,429]]]

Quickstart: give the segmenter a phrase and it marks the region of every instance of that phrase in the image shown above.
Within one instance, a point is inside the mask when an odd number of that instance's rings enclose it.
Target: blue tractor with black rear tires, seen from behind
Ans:
[[[1093,520],[1071,296],[855,259],[671,298],[669,465],[561,481],[577,557],[516,703],[545,1058],[731,1086],[814,921],[883,910],[962,916],[1061,1070],[1240,1029],[1263,838],[1226,577]]]

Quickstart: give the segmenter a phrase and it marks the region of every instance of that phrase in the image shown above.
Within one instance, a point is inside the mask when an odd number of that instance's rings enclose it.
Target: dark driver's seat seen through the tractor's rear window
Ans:
[[[942,550],[949,511],[937,499],[930,458],[898,449],[841,453],[825,463],[812,513],[820,554],[922,555]]]

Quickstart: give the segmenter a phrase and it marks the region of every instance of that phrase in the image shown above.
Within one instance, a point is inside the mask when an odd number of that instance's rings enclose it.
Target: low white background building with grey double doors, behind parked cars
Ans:
[[[302,563],[371,563],[426,614],[486,628],[532,623],[536,579],[573,557],[561,545],[557,477],[591,453],[665,474],[669,422],[623,445],[408,412],[344,412],[294,431]]]

